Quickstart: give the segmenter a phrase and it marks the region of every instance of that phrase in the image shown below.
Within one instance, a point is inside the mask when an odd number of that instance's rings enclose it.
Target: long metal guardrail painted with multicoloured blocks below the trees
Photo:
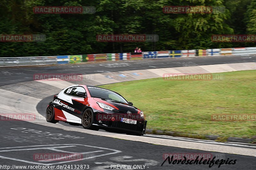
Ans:
[[[60,55],[60,56],[38,56],[38,57],[5,57],[0,58],[0,67],[26,66],[26,65],[48,65],[68,64],[97,61],[138,60],[145,58],[162,57],[191,57],[209,55],[240,55],[256,54],[256,47],[247,48],[221,48],[221,49],[199,49],[199,50],[176,50],[176,51],[153,51],[142,53],[113,53],[113,54],[89,54],[89,55]]]

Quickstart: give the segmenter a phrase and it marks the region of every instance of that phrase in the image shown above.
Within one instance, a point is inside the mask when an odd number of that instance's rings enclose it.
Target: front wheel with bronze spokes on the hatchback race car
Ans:
[[[90,130],[99,130],[95,126],[92,125],[94,120],[93,111],[91,108],[87,108],[81,118],[81,123],[84,129],[90,129]]]

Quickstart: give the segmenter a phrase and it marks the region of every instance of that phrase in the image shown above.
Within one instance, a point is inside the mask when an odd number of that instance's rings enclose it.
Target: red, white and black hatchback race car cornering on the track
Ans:
[[[73,85],[54,96],[46,109],[46,121],[80,124],[84,129],[115,129],[145,134],[143,112],[117,92],[88,85]]]

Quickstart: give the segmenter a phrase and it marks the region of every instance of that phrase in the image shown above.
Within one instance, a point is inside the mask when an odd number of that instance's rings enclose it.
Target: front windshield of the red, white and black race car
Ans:
[[[88,87],[88,90],[91,93],[92,97],[115,100],[115,101],[128,104],[127,101],[116,92],[112,92],[110,90],[102,89],[98,87]]]

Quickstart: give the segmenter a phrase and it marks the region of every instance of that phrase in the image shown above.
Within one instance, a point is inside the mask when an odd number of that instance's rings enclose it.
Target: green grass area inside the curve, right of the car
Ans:
[[[215,73],[223,79],[175,81],[152,78],[101,87],[120,93],[144,111],[147,128],[250,138],[256,121],[212,121],[213,114],[255,114],[256,70]]]

